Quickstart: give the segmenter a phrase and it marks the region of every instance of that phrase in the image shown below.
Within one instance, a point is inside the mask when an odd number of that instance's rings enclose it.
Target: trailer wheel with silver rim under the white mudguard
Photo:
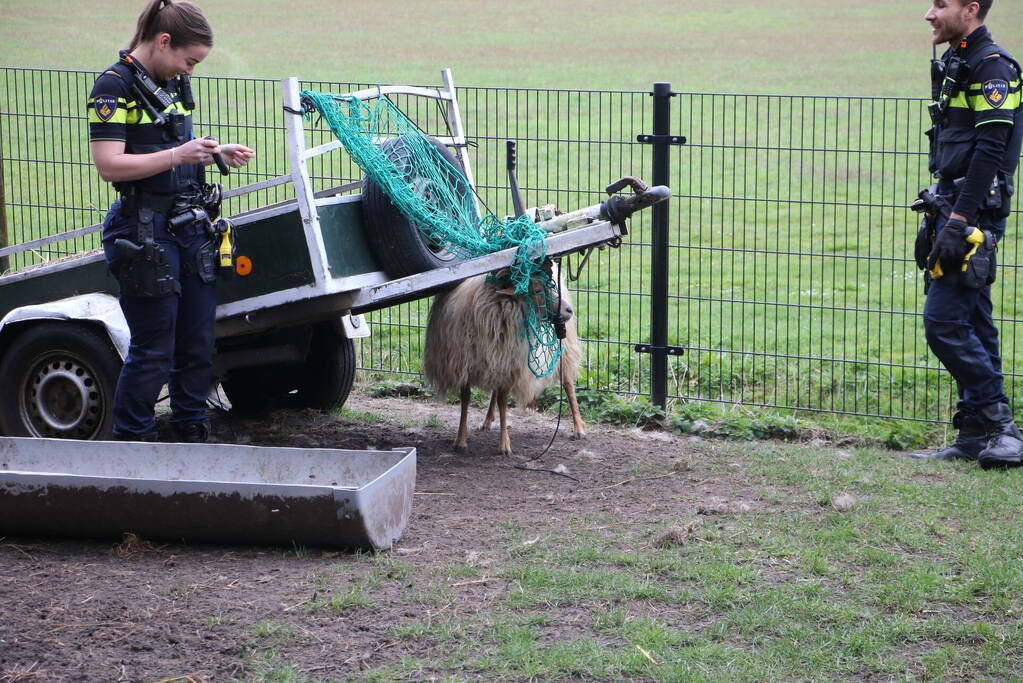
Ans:
[[[109,339],[89,325],[34,325],[11,343],[0,362],[0,431],[109,439],[121,365]]]

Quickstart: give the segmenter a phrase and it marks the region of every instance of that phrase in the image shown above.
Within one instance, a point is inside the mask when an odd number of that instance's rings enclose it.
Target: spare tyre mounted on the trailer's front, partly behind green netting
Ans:
[[[457,173],[450,173],[444,180],[458,193],[469,193],[471,188],[464,169],[454,154],[437,138],[426,136]],[[405,180],[415,187],[428,201],[434,193],[435,180],[421,178],[412,168],[411,153],[405,138],[393,138],[381,145],[388,158],[402,173]],[[363,223],[366,241],[388,275],[394,278],[414,275],[441,266],[462,261],[447,251],[443,244],[432,242],[419,232],[393,203],[384,189],[372,179],[365,178],[362,186]]]

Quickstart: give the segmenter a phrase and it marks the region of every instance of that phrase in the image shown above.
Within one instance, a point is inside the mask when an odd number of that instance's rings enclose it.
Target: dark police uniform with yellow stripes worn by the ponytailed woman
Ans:
[[[147,110],[137,78],[124,53],[99,76],[87,102],[90,140],[124,142],[125,152],[134,154],[187,142],[192,126],[181,80],[153,82],[170,104],[161,110],[150,100]],[[165,115],[165,125],[158,125],[153,111]],[[103,221],[103,249],[131,331],[114,400],[117,439],[155,440],[154,407],[165,383],[179,440],[206,441],[209,435],[206,400],[216,311],[210,255],[215,247],[208,222],[169,223],[203,186],[204,173],[202,165],[183,164],[142,180],[114,183],[120,197]]]

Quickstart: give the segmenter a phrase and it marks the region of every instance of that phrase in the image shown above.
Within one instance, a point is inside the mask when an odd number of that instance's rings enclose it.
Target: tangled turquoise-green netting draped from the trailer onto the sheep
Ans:
[[[551,322],[560,302],[558,285],[541,269],[547,255],[543,228],[525,216],[481,219],[461,171],[387,97],[364,102],[303,90],[301,98],[306,116],[312,109],[320,113],[355,163],[431,244],[462,259],[516,249],[508,278],[525,301],[529,369],[537,377],[550,374],[561,357]],[[394,153],[398,146],[400,163]]]

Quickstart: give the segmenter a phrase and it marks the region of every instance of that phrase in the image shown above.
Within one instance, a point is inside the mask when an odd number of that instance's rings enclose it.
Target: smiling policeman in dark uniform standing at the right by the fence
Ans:
[[[984,17],[992,0],[933,0],[924,18],[935,45],[948,43],[932,69],[930,170],[917,240],[925,269],[927,343],[955,379],[955,443],[921,457],[1020,464],[1023,438],[1003,389],[991,315],[994,251],[1006,231],[1013,174],[1023,141],[1020,66],[994,44]]]

